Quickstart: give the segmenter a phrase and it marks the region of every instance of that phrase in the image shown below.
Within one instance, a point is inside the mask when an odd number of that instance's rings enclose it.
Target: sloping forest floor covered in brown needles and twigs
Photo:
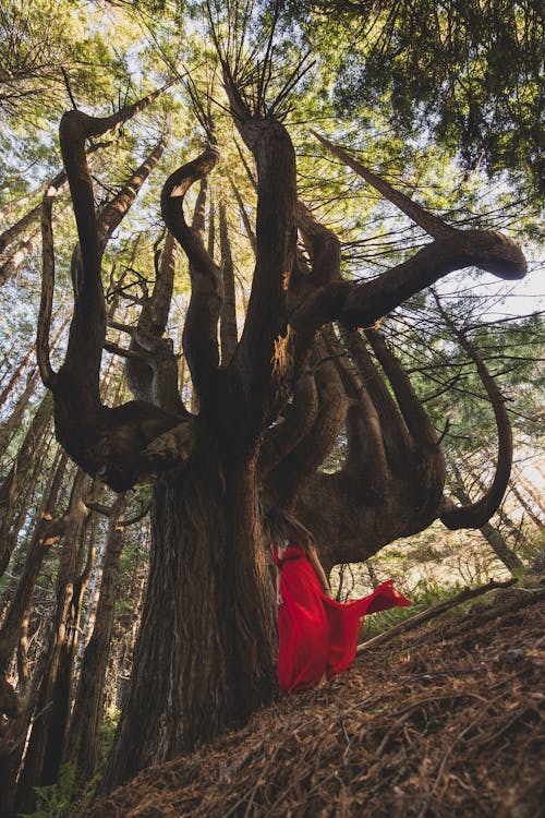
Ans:
[[[87,818],[538,818],[545,589],[485,594],[359,655]]]

